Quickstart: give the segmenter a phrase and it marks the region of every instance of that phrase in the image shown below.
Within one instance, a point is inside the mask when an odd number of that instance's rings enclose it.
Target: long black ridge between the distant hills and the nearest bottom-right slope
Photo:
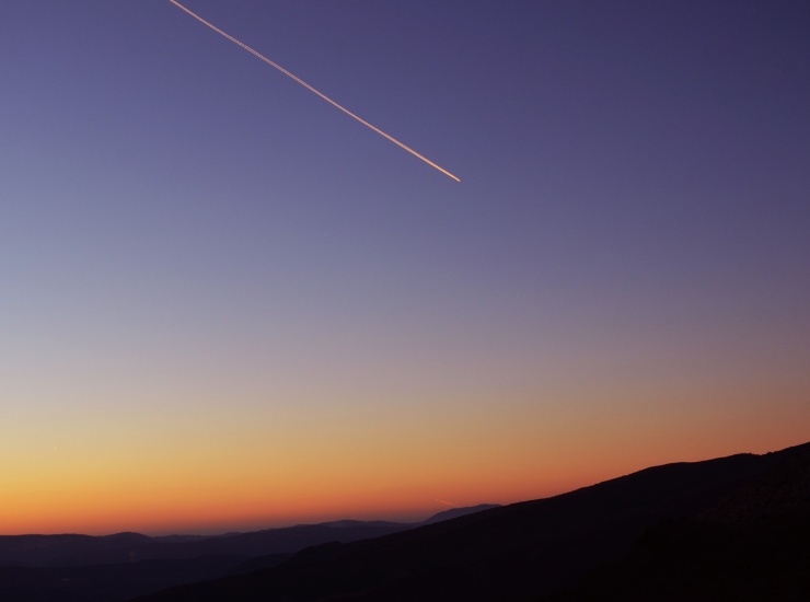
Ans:
[[[377,540],[316,546],[271,569],[142,600],[537,600],[623,557],[649,528],[717,507],[809,447],[648,468]]]

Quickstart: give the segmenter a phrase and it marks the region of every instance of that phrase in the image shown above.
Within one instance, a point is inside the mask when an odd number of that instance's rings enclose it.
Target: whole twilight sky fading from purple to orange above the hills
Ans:
[[[4,0],[0,533],[420,520],[810,440],[802,1]]]

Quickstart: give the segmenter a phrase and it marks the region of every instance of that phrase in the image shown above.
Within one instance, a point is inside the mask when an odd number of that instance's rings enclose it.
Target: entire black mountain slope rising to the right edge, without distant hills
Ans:
[[[810,443],[657,466],[141,602],[800,600]]]

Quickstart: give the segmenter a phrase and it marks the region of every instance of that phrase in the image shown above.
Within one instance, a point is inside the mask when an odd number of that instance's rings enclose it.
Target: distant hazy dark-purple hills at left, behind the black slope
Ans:
[[[0,601],[118,602],[273,567],[309,546],[379,537],[490,507],[453,508],[415,523],[343,520],[213,536],[0,536]]]

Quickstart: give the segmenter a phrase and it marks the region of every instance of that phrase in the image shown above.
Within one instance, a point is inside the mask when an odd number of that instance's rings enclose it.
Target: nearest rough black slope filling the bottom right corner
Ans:
[[[647,530],[632,553],[548,601],[810,599],[810,449],[696,517]]]

